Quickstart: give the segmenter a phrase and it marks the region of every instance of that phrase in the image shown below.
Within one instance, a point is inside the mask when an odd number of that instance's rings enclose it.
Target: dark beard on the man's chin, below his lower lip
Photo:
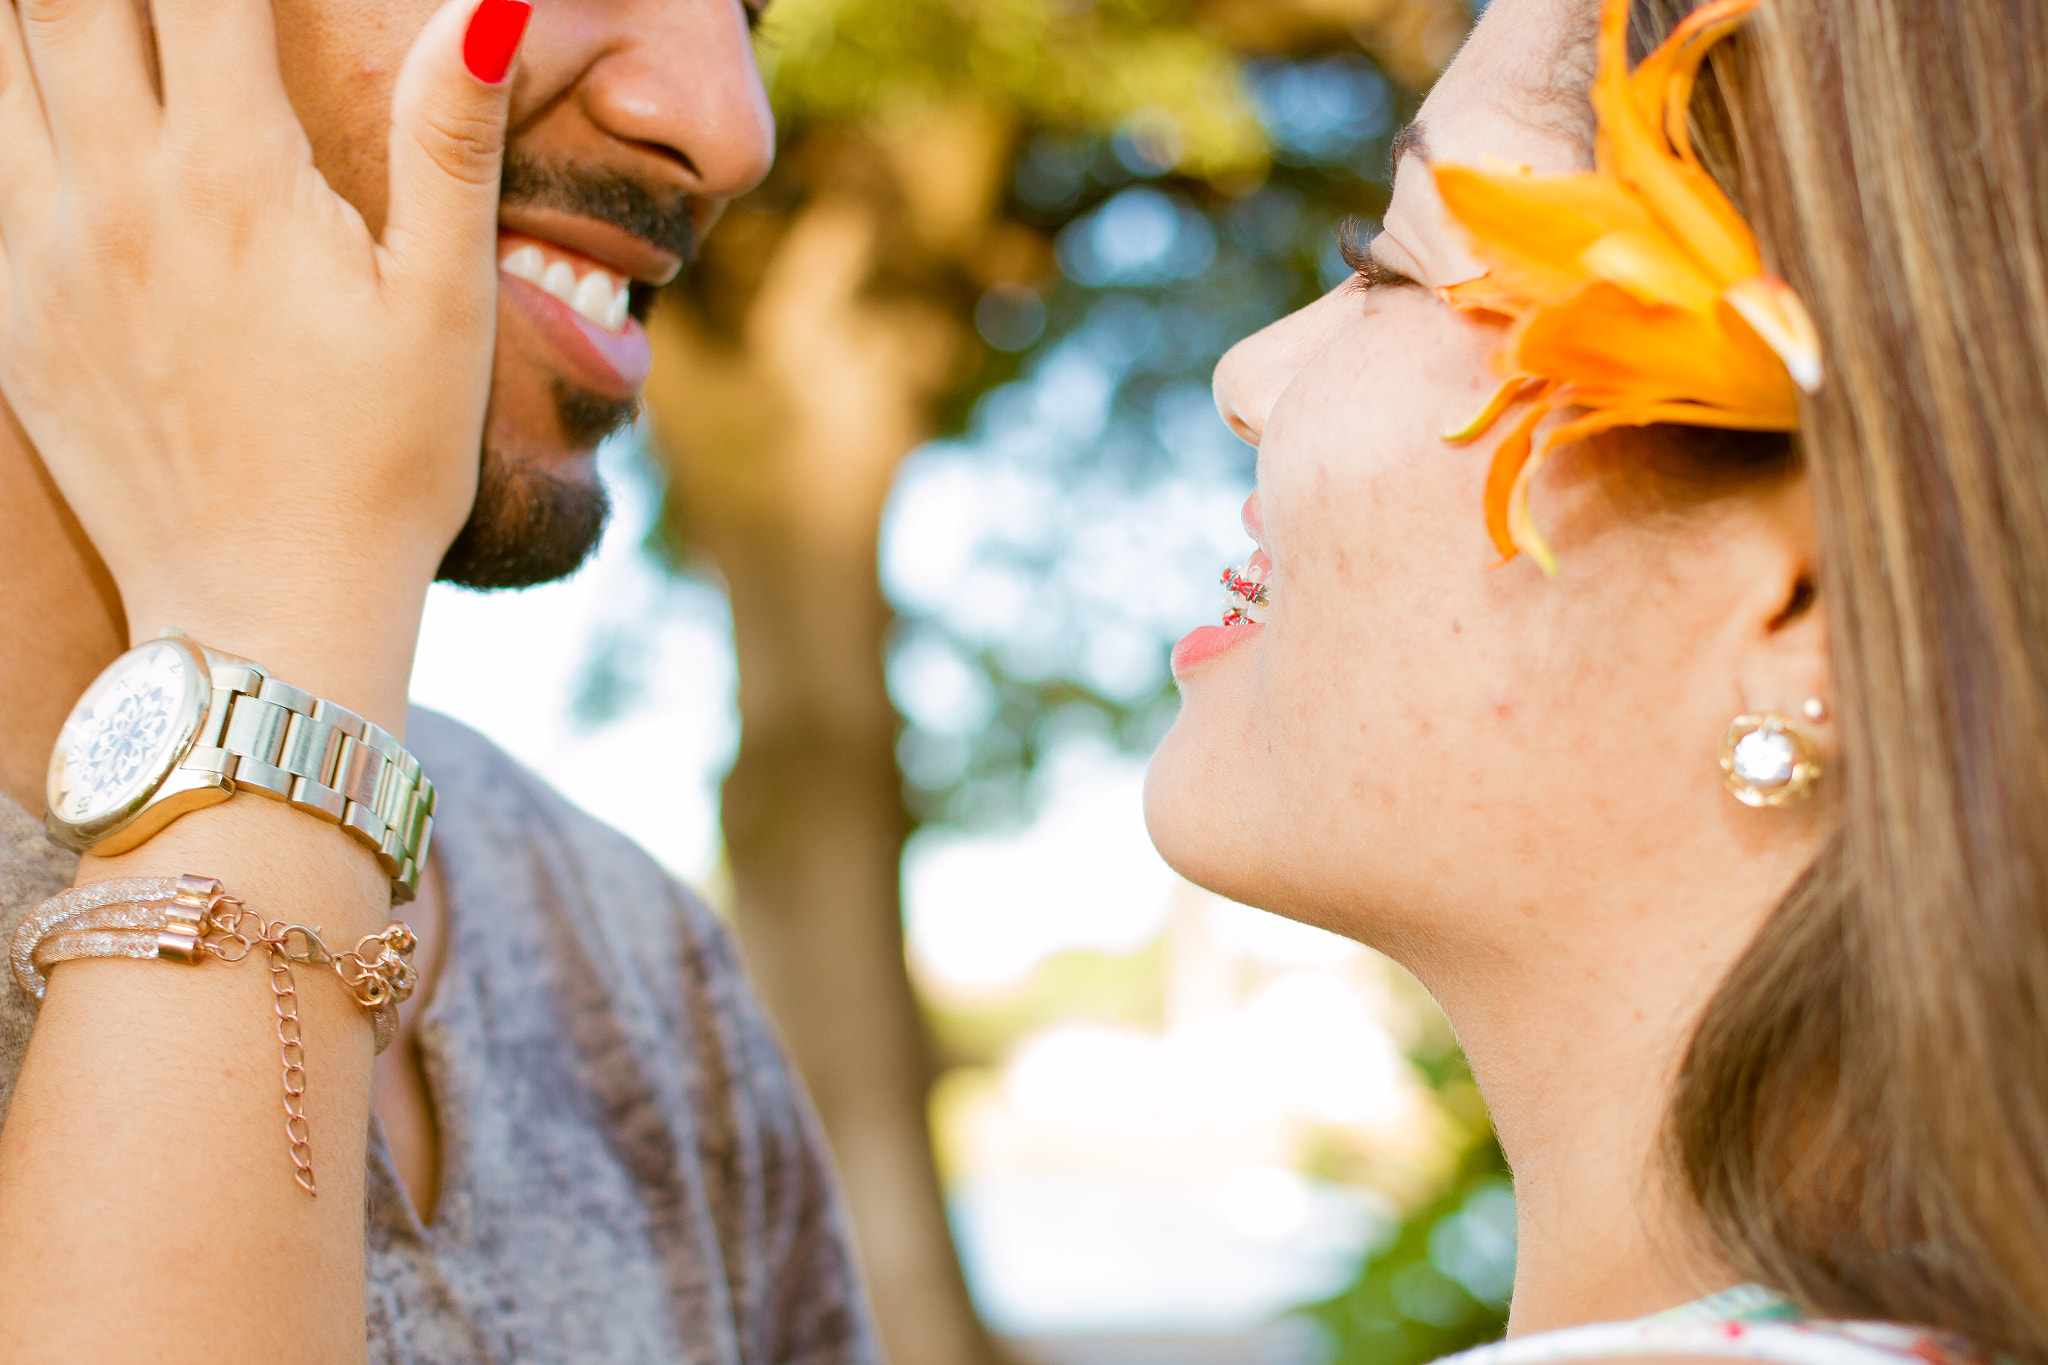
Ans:
[[[633,426],[637,403],[602,399],[557,379],[555,411],[563,436],[580,450],[594,450],[606,436]],[[598,548],[610,512],[612,499],[596,479],[520,469],[485,444],[477,501],[434,577],[479,589],[565,579]]]

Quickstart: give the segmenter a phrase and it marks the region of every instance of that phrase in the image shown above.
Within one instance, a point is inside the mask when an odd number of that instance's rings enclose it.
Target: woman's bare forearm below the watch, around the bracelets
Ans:
[[[285,641],[236,643],[293,655]],[[295,671],[395,731],[395,651],[360,645],[346,665],[307,653]],[[391,919],[369,849],[256,794],[88,857],[78,880],[186,872],[217,878],[262,919],[317,925],[332,950]],[[362,1359],[373,1025],[332,970],[301,964],[293,978],[317,1197],[293,1181],[262,948],[240,964],[49,970],[0,1128],[0,1359]]]

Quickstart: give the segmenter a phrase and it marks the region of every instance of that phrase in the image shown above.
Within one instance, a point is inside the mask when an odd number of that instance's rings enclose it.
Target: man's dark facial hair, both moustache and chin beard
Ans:
[[[657,199],[637,180],[610,170],[539,162],[506,149],[500,199],[508,205],[547,205],[612,223],[662,250],[696,256],[694,217],[684,196]],[[633,317],[645,321],[653,289],[633,284]],[[633,426],[639,403],[608,399],[557,379],[555,417],[575,450]],[[575,573],[604,536],[610,499],[596,481],[561,479],[522,469],[502,450],[483,446],[477,501],[434,575],[463,587],[532,587]]]

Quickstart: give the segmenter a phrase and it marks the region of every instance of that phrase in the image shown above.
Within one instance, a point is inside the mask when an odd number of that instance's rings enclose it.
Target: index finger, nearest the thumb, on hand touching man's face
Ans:
[[[154,0],[164,119],[195,145],[297,131],[270,0]]]

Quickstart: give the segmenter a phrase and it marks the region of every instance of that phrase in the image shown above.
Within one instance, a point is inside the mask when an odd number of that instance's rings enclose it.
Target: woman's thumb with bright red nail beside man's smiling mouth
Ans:
[[[403,280],[496,280],[498,174],[528,0],[446,0],[397,78],[383,246]]]

